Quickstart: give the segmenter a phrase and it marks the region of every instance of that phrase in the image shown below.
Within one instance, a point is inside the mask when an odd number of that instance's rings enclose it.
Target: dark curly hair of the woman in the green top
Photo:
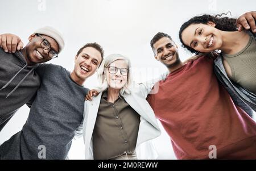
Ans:
[[[182,32],[185,30],[185,28],[187,28],[191,24],[207,24],[208,22],[213,22],[216,24],[215,28],[217,28],[218,30],[237,31],[235,18],[229,18],[227,16],[222,17],[222,15],[227,15],[228,13],[230,13],[230,12],[218,14],[215,16],[204,14],[204,15],[195,16],[195,17],[189,19],[187,22],[182,24],[182,26],[180,27],[179,38],[180,38],[180,42],[182,44],[181,46],[183,48],[187,48],[192,53],[196,53],[196,55],[198,55],[200,53],[199,51],[196,51],[195,49],[189,47],[188,45],[185,45],[183,40],[181,39]]]

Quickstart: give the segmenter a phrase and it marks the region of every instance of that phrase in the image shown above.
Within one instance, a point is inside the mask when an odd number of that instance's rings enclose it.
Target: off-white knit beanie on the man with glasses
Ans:
[[[65,43],[64,43],[63,36],[60,34],[59,31],[55,30],[52,27],[47,26],[47,27],[39,28],[33,34],[42,34],[42,35],[52,37],[52,39],[54,39],[57,42],[57,44],[59,45],[58,53],[60,53],[62,51],[62,49],[64,48]]]

